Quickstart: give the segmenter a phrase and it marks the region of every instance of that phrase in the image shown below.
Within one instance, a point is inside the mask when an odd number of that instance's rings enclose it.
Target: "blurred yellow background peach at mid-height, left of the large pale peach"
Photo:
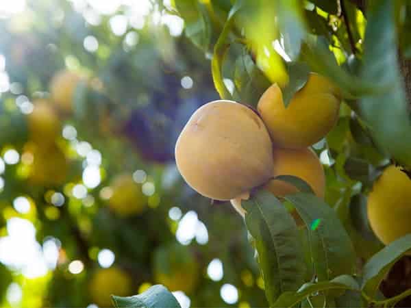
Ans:
[[[132,175],[123,173],[114,177],[112,190],[108,205],[119,216],[140,214],[147,207],[147,197],[142,193],[141,184],[136,183]]]

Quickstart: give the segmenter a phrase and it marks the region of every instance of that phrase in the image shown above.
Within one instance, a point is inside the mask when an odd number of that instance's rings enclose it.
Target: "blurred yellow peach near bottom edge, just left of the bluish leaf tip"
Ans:
[[[129,274],[120,268],[104,268],[97,270],[88,285],[93,303],[99,307],[112,307],[111,295],[130,296],[132,280]]]

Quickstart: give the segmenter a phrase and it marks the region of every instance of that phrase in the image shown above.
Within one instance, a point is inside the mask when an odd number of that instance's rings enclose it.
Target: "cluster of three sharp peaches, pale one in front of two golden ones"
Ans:
[[[232,203],[258,186],[276,196],[297,191],[275,179],[291,175],[306,181],[321,198],[323,167],[309,146],[319,142],[338,118],[340,94],[325,77],[310,73],[306,85],[286,107],[273,84],[258,102],[258,111],[234,101],[212,101],[200,107],[175,146],[177,167],[197,192]]]

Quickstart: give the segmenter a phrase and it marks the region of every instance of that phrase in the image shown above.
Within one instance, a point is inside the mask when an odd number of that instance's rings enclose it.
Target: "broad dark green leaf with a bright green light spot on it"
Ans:
[[[319,281],[353,273],[356,255],[349,235],[335,211],[313,194],[299,192],[285,198],[294,205],[310,229],[312,263]],[[311,228],[312,224],[318,224],[318,227]]]

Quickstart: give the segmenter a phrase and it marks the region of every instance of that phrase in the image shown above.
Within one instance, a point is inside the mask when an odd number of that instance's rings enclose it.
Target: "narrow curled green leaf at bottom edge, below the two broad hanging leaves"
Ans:
[[[332,281],[304,283],[297,292],[284,292],[273,307],[294,307],[307,296],[325,290],[358,290],[358,283],[349,275],[338,276]]]

